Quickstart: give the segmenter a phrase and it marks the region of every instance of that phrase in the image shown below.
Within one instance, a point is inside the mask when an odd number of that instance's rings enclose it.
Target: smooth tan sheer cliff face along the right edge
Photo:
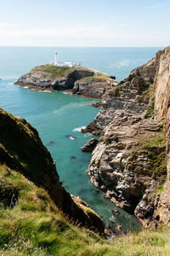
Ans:
[[[167,179],[156,196],[155,218],[164,223],[170,221],[170,47],[163,50],[156,73],[155,119],[165,122],[167,148]]]

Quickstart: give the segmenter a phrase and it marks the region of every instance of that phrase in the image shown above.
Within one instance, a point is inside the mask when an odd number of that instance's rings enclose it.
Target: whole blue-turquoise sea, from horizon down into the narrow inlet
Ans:
[[[0,47],[0,106],[15,116],[27,119],[39,132],[42,143],[56,160],[57,172],[65,189],[86,201],[105,222],[122,225],[123,230],[139,229],[137,219],[116,207],[90,183],[87,169],[91,154],[81,147],[91,137],[82,134],[99,113],[91,107],[96,99],[71,96],[62,91],[42,92],[13,83],[31,68],[54,61],[81,62],[83,67],[125,79],[133,68],[150,61],[163,47]],[[117,214],[113,214],[118,210]]]

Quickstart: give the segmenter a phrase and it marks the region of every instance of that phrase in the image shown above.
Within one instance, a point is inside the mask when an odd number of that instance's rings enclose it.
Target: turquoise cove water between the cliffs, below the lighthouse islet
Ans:
[[[82,153],[81,147],[91,136],[82,134],[99,108],[91,107],[95,99],[71,96],[62,92],[41,92],[13,85],[14,79],[0,81],[1,107],[9,113],[27,119],[48,148],[65,189],[80,196],[105,219],[106,227],[112,222],[124,230],[135,230],[139,224],[134,216],[114,206],[103,193],[89,182],[86,172],[91,154]],[[111,211],[118,209],[118,215]]]

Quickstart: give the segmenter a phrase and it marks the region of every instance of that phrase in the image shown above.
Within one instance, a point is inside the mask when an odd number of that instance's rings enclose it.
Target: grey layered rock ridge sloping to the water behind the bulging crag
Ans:
[[[135,68],[126,79],[106,94],[101,102],[101,110],[82,132],[100,135],[116,114],[123,111],[141,118],[144,116],[144,111],[153,108],[150,106],[148,88],[153,84],[156,69],[159,66],[159,57],[160,55],[157,54],[156,58]]]

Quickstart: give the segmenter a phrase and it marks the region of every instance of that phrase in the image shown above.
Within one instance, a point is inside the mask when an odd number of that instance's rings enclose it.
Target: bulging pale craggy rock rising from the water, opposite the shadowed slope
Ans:
[[[157,130],[149,131],[155,125]],[[142,137],[156,137],[160,129],[154,120],[149,122],[130,115],[116,116],[105,127],[92,154],[88,167],[92,183],[127,212],[134,212],[145,189],[150,187],[153,179],[156,180],[147,150],[141,147],[140,142]],[[158,185],[160,183],[156,183],[156,187]]]

